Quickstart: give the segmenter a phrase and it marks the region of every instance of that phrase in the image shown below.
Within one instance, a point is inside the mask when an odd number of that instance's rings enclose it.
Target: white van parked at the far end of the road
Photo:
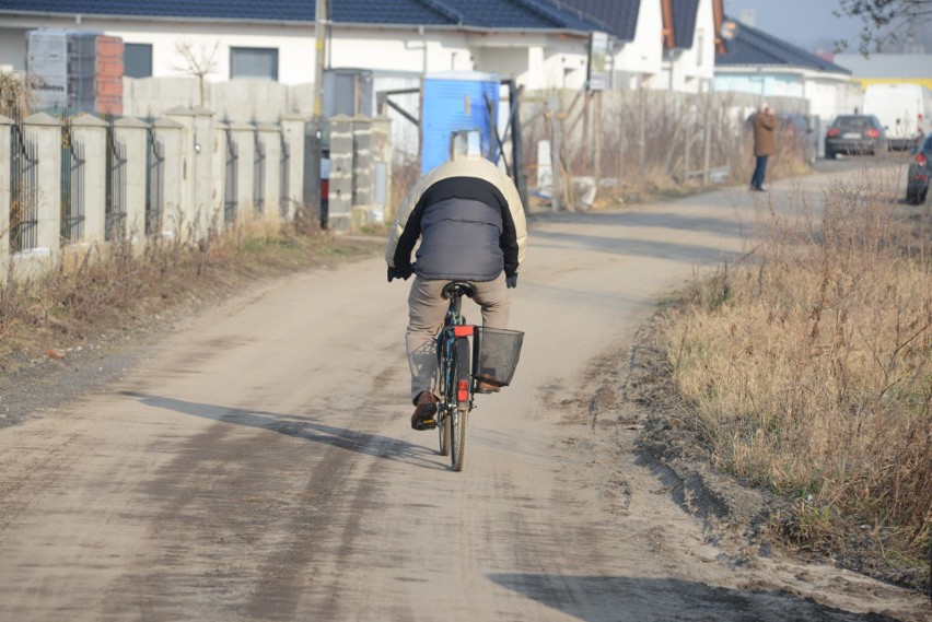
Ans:
[[[921,84],[871,84],[864,91],[864,114],[881,119],[890,149],[910,149],[932,131],[932,93]]]

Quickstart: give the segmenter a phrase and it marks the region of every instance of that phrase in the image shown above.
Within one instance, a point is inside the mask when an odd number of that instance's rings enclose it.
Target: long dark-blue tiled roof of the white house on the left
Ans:
[[[314,22],[314,0],[0,0],[2,13]],[[552,0],[333,0],[335,23],[603,30]]]

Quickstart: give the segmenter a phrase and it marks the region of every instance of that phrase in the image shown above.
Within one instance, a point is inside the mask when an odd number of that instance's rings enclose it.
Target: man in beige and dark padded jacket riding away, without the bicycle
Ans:
[[[417,248],[416,261],[411,254]],[[479,132],[454,132],[451,159],[421,177],[398,208],[385,260],[388,282],[415,273],[408,296],[405,344],[411,372],[411,427],[436,426],[436,332],[447,302],[441,291],[451,281],[475,289],[482,325],[506,328],[508,289],[517,285],[527,225],[514,183],[482,157]],[[478,384],[477,390],[497,390]]]

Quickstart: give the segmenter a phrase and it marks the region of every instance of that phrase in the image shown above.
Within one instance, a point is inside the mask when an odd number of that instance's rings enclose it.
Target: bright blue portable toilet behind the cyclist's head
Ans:
[[[450,160],[450,137],[478,129],[482,155],[496,161],[499,79],[479,71],[445,71],[424,77],[421,114],[421,173]]]

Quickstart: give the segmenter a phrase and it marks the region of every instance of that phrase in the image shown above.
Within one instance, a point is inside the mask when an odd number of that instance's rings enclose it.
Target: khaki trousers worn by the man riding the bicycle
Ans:
[[[408,365],[411,368],[411,402],[421,391],[433,387],[436,372],[436,333],[443,326],[450,301],[441,295],[450,281],[427,281],[415,277],[408,295],[408,331],[405,344],[408,349]],[[494,281],[467,281],[476,290],[474,300],[482,309],[482,326],[508,328],[509,297],[504,272]],[[465,308],[465,305],[464,305]],[[466,312],[464,312],[466,314]],[[467,320],[470,318],[467,315]],[[476,324],[475,320],[471,324]]]

